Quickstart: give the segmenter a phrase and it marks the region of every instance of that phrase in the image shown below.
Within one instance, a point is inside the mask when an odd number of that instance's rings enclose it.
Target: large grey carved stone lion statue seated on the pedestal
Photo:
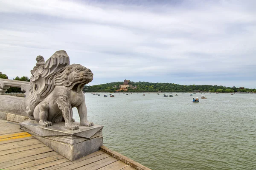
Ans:
[[[93,80],[90,69],[80,65],[70,65],[64,50],[56,51],[45,63],[42,56],[31,71],[29,96],[26,100],[26,114],[41,126],[65,122],[68,130],[77,130],[72,108],[76,107],[80,125],[93,126],[87,120],[87,108],[82,92],[84,85]]]

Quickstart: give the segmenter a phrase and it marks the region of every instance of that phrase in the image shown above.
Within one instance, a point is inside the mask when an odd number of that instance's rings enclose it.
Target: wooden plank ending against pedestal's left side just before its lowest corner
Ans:
[[[18,165],[12,166],[12,167],[7,167],[7,169],[22,170],[24,168],[33,167],[33,166],[36,166],[36,165],[39,165],[39,164],[43,164],[43,163],[46,163],[46,162],[55,161],[55,160],[63,159],[63,158],[64,158],[63,156],[58,154],[58,155],[54,155],[54,156],[49,156],[47,158],[38,159],[38,160],[35,160],[35,161],[29,161],[29,162],[26,162],[26,163],[23,163],[23,164],[18,164]]]

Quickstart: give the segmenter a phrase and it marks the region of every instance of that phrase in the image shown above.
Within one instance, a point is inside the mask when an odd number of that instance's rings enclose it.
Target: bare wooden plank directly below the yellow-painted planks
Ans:
[[[39,143],[42,143],[42,142],[38,141],[38,139],[28,139],[28,140],[19,141],[19,142],[0,144],[0,151],[14,149],[17,147],[25,147],[25,146],[29,146],[32,144],[39,144]]]

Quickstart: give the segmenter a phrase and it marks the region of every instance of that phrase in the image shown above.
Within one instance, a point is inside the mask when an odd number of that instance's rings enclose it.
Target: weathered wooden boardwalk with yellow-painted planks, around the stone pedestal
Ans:
[[[150,170],[104,146],[95,153],[70,161],[21,130],[17,123],[0,119],[0,169],[136,170],[132,166]]]

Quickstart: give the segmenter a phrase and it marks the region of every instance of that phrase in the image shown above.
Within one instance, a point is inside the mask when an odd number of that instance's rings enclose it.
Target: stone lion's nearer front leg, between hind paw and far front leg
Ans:
[[[68,130],[77,130],[79,129],[79,125],[76,125],[73,123],[73,118],[72,118],[72,107],[68,102],[65,102],[64,100],[58,98],[56,100],[56,103],[58,104],[59,109],[62,112],[62,116],[65,120],[65,127]]]

